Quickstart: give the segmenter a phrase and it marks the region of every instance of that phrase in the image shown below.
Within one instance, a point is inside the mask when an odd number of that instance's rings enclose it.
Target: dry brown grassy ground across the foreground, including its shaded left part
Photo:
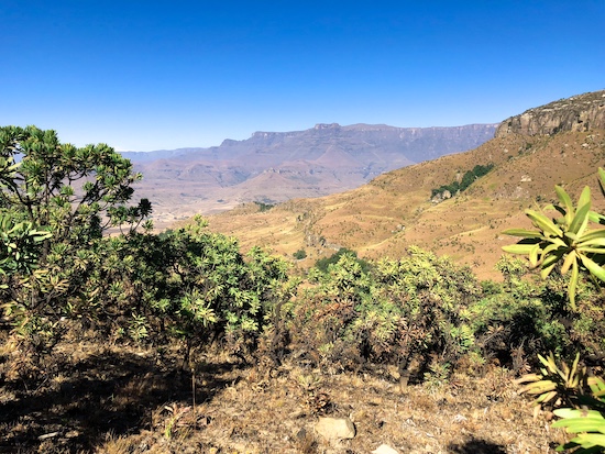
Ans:
[[[388,369],[326,373],[300,364],[243,365],[178,348],[66,336],[37,361],[0,342],[0,453],[549,453],[564,441],[532,419],[513,376],[403,386]],[[327,440],[322,417],[349,418],[351,440]]]

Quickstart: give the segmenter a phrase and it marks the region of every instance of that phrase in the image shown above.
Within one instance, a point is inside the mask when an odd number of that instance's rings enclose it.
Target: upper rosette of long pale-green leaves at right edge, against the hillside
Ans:
[[[605,171],[598,169],[601,184],[605,184]],[[602,292],[605,278],[605,229],[588,229],[591,223],[605,223],[602,214],[591,211],[591,192],[585,187],[578,201],[578,208],[569,195],[556,187],[560,204],[546,209],[561,215],[549,219],[543,212],[527,210],[537,230],[510,229],[505,233],[521,236],[515,245],[504,250],[529,257],[531,266],[541,267],[547,286],[541,298],[551,319],[561,321],[556,334],[566,337],[581,348],[583,355],[603,357],[605,354],[605,315]],[[571,274],[568,272],[571,269]],[[554,273],[553,273],[554,272]],[[565,276],[569,274],[569,278]],[[563,277],[562,277],[563,275]],[[591,279],[580,279],[588,275]],[[566,288],[566,298],[562,290]],[[554,326],[551,324],[551,326]],[[561,343],[560,343],[561,346]],[[563,353],[560,350],[558,353]]]

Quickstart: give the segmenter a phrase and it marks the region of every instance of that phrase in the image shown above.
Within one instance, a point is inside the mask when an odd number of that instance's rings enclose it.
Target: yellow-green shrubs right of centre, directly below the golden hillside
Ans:
[[[561,276],[528,278],[519,259],[498,262],[504,283],[480,283],[468,267],[414,246],[399,259],[365,267],[348,252],[327,262],[309,272],[282,314],[292,353],[314,366],[392,364],[424,379],[491,362],[522,372],[549,350],[564,357],[579,347],[595,357],[605,352],[598,288],[583,285],[572,311]]]

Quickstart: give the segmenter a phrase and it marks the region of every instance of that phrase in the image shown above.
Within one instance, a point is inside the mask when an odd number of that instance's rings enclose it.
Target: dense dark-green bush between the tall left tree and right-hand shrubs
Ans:
[[[243,348],[268,323],[287,265],[253,248],[244,256],[238,242],[206,230],[196,217],[160,235],[131,233],[97,244],[85,298],[70,309],[107,324],[128,323],[129,335],[143,340],[162,333],[193,346],[219,339]],[[127,321],[129,320],[129,321]],[[119,326],[117,326],[118,329]]]

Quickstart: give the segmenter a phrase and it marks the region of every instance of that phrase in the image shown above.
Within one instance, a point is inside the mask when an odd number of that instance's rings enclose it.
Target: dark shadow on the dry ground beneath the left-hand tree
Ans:
[[[234,367],[212,364],[198,370],[196,401],[224,389],[231,381],[221,374]],[[169,402],[190,405],[191,389],[190,373],[170,372],[157,357],[114,352],[64,364],[33,385],[0,384],[0,453],[91,451],[107,434],[152,429],[153,411]]]

